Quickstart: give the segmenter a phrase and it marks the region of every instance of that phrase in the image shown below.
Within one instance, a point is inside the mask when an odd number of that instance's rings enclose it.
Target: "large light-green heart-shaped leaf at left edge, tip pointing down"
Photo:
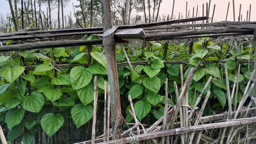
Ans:
[[[7,66],[0,70],[0,77],[13,83],[25,70],[23,66]]]

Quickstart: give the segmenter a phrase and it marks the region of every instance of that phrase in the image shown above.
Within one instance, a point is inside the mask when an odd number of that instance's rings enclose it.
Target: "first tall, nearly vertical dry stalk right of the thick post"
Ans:
[[[166,129],[166,123],[167,123],[167,112],[168,112],[168,78],[165,79],[165,105],[164,105],[164,118],[163,118],[163,125],[162,130]],[[161,144],[164,144],[164,137],[161,139]]]

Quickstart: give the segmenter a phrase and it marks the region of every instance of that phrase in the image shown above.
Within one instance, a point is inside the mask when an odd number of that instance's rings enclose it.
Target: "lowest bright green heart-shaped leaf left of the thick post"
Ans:
[[[55,134],[64,123],[64,118],[61,114],[54,115],[53,113],[47,113],[42,116],[41,126],[46,134],[51,137]]]

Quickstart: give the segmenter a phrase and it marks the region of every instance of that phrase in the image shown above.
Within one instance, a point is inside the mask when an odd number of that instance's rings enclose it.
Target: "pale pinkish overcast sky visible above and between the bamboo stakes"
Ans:
[[[198,13],[200,16],[202,16],[202,4],[204,3],[206,6],[206,2],[209,2],[209,0],[176,0],[174,4],[174,15],[178,17],[179,13],[182,15],[185,15],[186,13],[186,1],[188,2],[188,10],[190,10],[190,14],[192,16],[192,11],[193,7],[195,7],[195,13],[196,13],[196,7],[198,5]],[[70,0],[70,3],[68,6],[64,8],[64,15],[70,14],[70,11],[73,14],[73,7],[72,7],[72,2],[74,5],[78,5],[79,1],[77,0]],[[213,13],[213,6],[216,4],[215,7],[215,13],[214,13],[214,19],[217,19],[217,21],[223,21],[226,18],[226,13],[227,13],[227,7],[228,7],[228,2],[230,2],[229,6],[229,12],[228,12],[228,19],[233,21],[233,3],[232,0],[212,0],[211,1],[211,7],[210,7],[210,14],[209,16],[212,16]],[[6,14],[9,12],[10,14],[10,7],[9,3],[6,0],[0,0],[1,3],[1,8],[0,8],[0,13],[1,14]],[[161,15],[171,15],[172,12],[172,4],[173,0],[163,0],[160,6],[160,16]],[[250,8],[251,4],[251,19],[250,21],[256,21],[256,0],[235,0],[235,16],[236,16],[236,21],[238,20],[238,15],[239,15],[239,7],[240,4],[242,4],[241,8],[241,14],[243,20],[246,20],[246,15],[247,15],[247,10]],[[43,10],[46,11],[46,8],[42,8]],[[148,12],[147,12],[148,14]],[[53,10],[51,13],[52,17],[54,19],[57,19],[57,8]],[[151,10],[151,15],[152,15],[152,10]],[[248,16],[249,17],[249,16]],[[249,19],[249,18],[248,18]]]

